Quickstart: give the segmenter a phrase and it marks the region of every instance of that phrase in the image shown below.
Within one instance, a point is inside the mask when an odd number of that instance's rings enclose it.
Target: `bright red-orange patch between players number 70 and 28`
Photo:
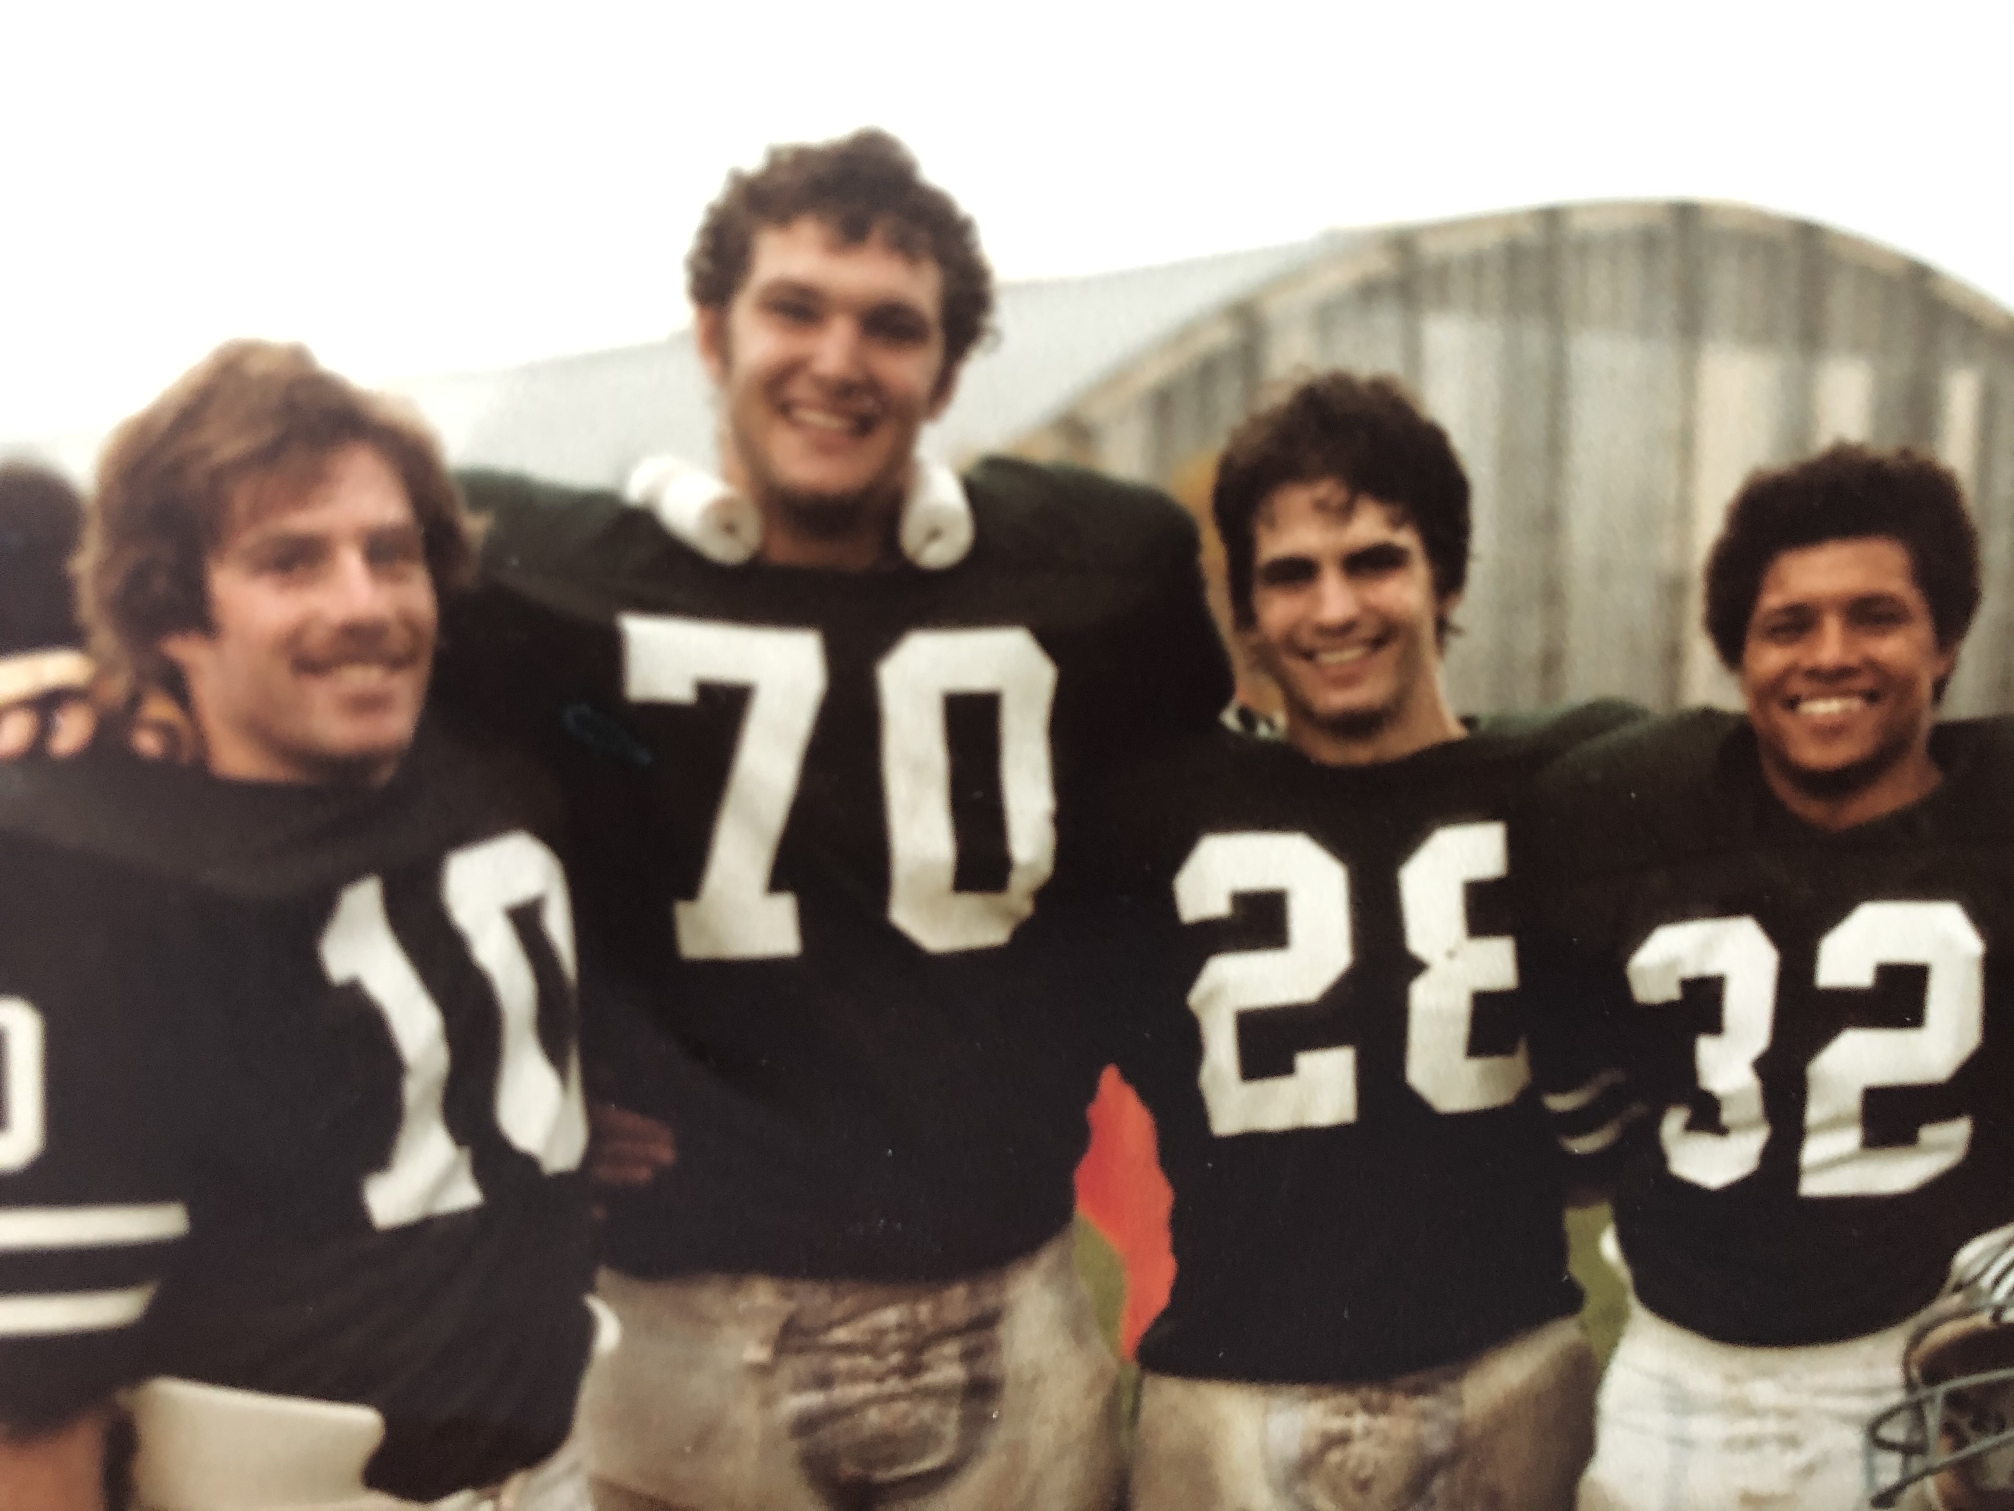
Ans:
[[[1092,1144],[1077,1164],[1077,1211],[1104,1233],[1126,1267],[1126,1308],[1120,1312],[1120,1352],[1132,1358],[1146,1326],[1174,1289],[1174,1247],[1168,1213],[1174,1189],[1162,1175],[1154,1114],[1118,1070],[1106,1066],[1088,1112]]]

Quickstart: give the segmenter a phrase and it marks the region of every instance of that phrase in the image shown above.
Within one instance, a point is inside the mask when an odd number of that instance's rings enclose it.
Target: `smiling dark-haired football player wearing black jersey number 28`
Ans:
[[[1247,419],[1214,514],[1285,737],[1214,731],[1118,798],[1120,1062],[1176,1261],[1132,1505],[1559,1511],[1595,1362],[1539,1092],[1591,1152],[1625,1108],[1521,993],[1506,816],[1635,709],[1452,715],[1468,479],[1390,379],[1329,373]]]

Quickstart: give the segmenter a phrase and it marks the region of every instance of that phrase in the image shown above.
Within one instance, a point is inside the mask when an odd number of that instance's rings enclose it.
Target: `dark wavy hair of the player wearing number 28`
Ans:
[[[1468,473],[1448,433],[1392,377],[1321,373],[1249,415],[1216,463],[1210,512],[1225,542],[1231,612],[1253,623],[1253,522],[1287,484],[1333,477],[1390,504],[1426,546],[1434,594],[1468,582]],[[1446,639],[1446,619],[1440,623]]]

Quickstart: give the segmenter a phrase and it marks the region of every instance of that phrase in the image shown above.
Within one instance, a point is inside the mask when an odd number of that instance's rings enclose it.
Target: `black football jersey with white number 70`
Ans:
[[[560,776],[612,957],[590,1076],[679,1140],[610,1201],[610,1261],[939,1279],[1049,1239],[1100,1064],[1055,856],[1114,766],[1229,697],[1188,516],[987,461],[961,562],[832,572],[463,486],[485,586],[437,689]]]

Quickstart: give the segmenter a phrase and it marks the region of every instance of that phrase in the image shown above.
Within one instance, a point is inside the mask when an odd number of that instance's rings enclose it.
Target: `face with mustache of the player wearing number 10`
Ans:
[[[209,629],[161,641],[211,772],[256,782],[387,780],[413,743],[437,602],[405,484],[352,443],[304,477],[232,498],[205,564]]]

